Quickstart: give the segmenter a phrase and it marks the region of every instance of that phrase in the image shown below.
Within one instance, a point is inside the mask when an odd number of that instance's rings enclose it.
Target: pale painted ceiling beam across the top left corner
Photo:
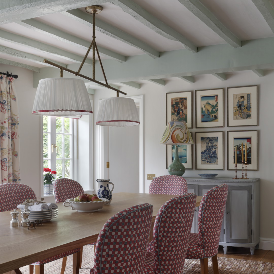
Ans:
[[[64,10],[102,4],[107,0],[7,0],[0,1],[0,25]]]

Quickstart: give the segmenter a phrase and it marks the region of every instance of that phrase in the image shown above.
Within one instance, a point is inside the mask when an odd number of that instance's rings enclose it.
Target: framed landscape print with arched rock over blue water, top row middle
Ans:
[[[195,90],[196,128],[224,127],[224,88]]]

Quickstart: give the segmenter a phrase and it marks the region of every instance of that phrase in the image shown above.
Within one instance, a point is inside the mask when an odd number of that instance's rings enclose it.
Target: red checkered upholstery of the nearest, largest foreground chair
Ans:
[[[140,204],[112,216],[98,236],[90,273],[142,273],[153,206]]]

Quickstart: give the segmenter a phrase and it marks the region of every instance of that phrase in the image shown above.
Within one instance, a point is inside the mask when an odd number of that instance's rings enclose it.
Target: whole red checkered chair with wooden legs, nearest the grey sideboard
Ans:
[[[218,274],[218,247],[228,185],[208,190],[202,197],[198,212],[198,233],[190,233],[186,259],[200,259],[201,273],[208,273],[208,258],[212,257],[213,273]]]

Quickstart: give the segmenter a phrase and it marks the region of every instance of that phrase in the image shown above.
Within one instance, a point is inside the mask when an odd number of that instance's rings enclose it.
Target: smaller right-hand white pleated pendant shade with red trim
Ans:
[[[125,127],[139,124],[139,114],[133,99],[126,97],[102,99],[96,125]]]

